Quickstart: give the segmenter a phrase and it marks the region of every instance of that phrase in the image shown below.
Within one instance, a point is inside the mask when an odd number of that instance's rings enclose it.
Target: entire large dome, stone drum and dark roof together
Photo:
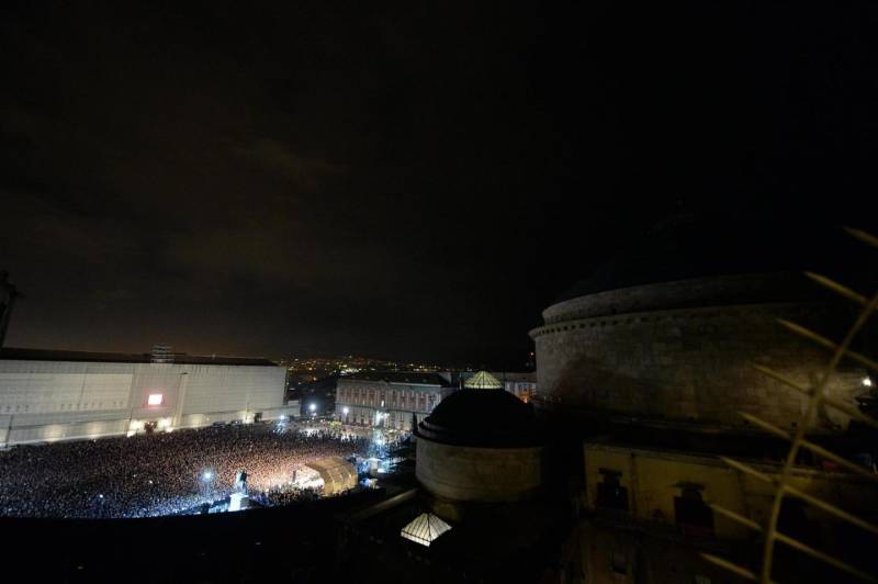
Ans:
[[[750,431],[745,412],[795,428],[803,397],[753,364],[811,383],[828,355],[777,319],[842,338],[852,305],[801,270],[874,290],[857,270],[867,252],[841,228],[799,224],[702,223],[651,234],[543,311],[544,325],[530,333],[534,407],[599,424]],[[846,366],[826,391],[853,407],[862,377]],[[817,427],[835,431],[847,422],[821,413]]]

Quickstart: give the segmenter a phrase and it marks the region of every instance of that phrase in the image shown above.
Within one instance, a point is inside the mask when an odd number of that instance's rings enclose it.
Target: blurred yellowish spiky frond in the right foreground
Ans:
[[[851,236],[860,240],[862,243],[878,248],[878,237],[875,237],[874,235],[859,229],[847,228],[846,231]],[[729,570],[730,572],[733,572],[745,580],[750,580],[753,582],[768,583],[772,582],[772,568],[775,558],[776,543],[780,542],[793,550],[797,550],[798,552],[804,553],[811,558],[825,562],[826,564],[830,564],[838,569],[840,571],[845,572],[851,576],[854,576],[855,579],[865,582],[878,582],[878,577],[876,577],[875,575],[867,574],[863,570],[853,566],[833,557],[830,553],[813,548],[808,543],[799,541],[796,538],[792,538],[789,535],[778,530],[778,519],[780,517],[780,508],[784,503],[784,498],[796,497],[800,501],[803,501],[804,503],[813,505],[819,509],[822,509],[823,512],[836,517],[842,521],[846,521],[851,525],[859,527],[860,529],[869,534],[878,536],[878,526],[863,519],[862,517],[857,516],[854,513],[846,512],[831,503],[821,499],[820,497],[810,495],[792,484],[791,479],[792,479],[793,464],[799,452],[803,449],[810,450],[813,454],[830,460],[838,464],[841,468],[849,472],[856,473],[860,476],[865,476],[870,481],[878,480],[878,475],[873,473],[870,469],[867,469],[838,454],[835,454],[834,452],[817,443],[813,443],[812,441],[806,438],[806,434],[808,433],[811,422],[815,418],[817,412],[824,406],[834,407],[835,409],[849,416],[852,419],[855,419],[871,428],[878,428],[878,420],[864,414],[854,406],[851,406],[830,395],[826,395],[825,391],[830,379],[835,374],[838,363],[843,359],[849,359],[865,367],[866,369],[878,372],[878,361],[875,361],[874,359],[851,349],[851,345],[856,338],[857,334],[865,327],[869,317],[873,316],[876,310],[878,308],[878,292],[876,292],[871,297],[868,297],[824,276],[813,272],[807,272],[807,276],[818,284],[830,290],[831,292],[838,294],[842,297],[846,299],[847,301],[857,304],[860,310],[859,315],[857,316],[853,326],[848,329],[844,339],[840,344],[836,344],[835,341],[826,337],[823,337],[820,334],[812,332],[796,323],[791,323],[789,321],[784,321],[784,319],[778,321],[780,325],[786,327],[792,334],[798,335],[829,350],[832,353],[832,357],[830,358],[822,375],[820,375],[818,381],[810,386],[793,381],[788,377],[778,373],[777,371],[774,371],[767,367],[754,364],[754,367],[765,375],[768,375],[769,378],[783,383],[787,388],[790,388],[793,391],[806,395],[808,397],[808,405],[806,407],[804,413],[800,417],[795,434],[790,434],[784,430],[783,428],[779,428],[774,424],[765,422],[764,419],[757,416],[740,412],[740,415],[743,416],[744,419],[756,425],[757,427],[767,431],[768,434],[781,438],[790,443],[789,452],[787,454],[783,470],[779,475],[768,475],[750,467],[748,464],[744,464],[740,461],[732,460],[729,458],[722,458],[722,460],[727,464],[729,464],[729,467],[731,467],[732,469],[735,469],[742,473],[753,476],[759,481],[770,483],[774,486],[774,501],[772,504],[770,515],[768,516],[766,525],[759,525],[758,523],[747,517],[743,517],[742,515],[739,515],[735,512],[723,508],[720,505],[716,504],[710,505],[711,508],[714,512],[719,513],[720,515],[723,515],[724,517],[763,535],[764,542],[763,542],[762,566],[759,573],[757,574],[747,568],[741,566],[724,558],[720,558],[713,554],[702,553],[702,557],[709,562],[714,563],[721,568],[724,568],[725,570]]]

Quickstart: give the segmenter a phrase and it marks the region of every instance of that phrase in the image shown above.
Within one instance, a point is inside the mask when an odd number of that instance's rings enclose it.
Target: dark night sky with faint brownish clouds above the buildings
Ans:
[[[656,223],[869,217],[869,2],[547,4],[2,2],[7,346],[514,367]]]

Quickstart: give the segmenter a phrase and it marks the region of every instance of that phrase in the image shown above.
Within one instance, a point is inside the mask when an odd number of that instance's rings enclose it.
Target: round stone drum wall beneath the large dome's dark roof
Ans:
[[[804,397],[752,364],[810,384],[829,353],[777,318],[841,338],[854,313],[837,303],[799,301],[788,278],[699,278],[597,292],[550,306],[545,325],[531,332],[542,396],[534,405],[701,429],[746,428],[741,411],[792,427]],[[784,294],[797,301],[779,302]],[[855,406],[862,378],[856,368],[844,370],[829,391]],[[841,429],[847,422],[831,411],[821,413],[820,426]]]

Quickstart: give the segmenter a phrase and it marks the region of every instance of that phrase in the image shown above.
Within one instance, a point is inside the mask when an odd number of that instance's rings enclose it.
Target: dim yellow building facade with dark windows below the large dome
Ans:
[[[714,456],[585,442],[582,504],[577,530],[584,582],[735,582],[709,564],[701,552],[746,562],[757,535],[714,512],[717,504],[759,525],[770,513],[768,482],[733,470]],[[746,460],[777,475],[777,463]],[[878,516],[878,490],[847,473],[796,469],[793,485],[860,516]],[[817,547],[831,544],[837,524],[788,497],[780,530]],[[657,561],[661,559],[661,561]]]

